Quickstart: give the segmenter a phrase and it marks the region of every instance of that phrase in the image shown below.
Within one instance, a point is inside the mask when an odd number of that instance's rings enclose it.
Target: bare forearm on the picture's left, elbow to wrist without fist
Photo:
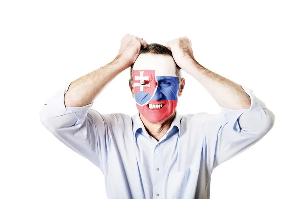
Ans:
[[[65,93],[65,107],[82,107],[92,103],[105,86],[129,67],[116,57],[112,62],[73,81]]]

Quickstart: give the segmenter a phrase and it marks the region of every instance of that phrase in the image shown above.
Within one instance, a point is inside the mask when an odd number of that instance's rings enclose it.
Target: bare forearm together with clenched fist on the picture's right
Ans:
[[[188,37],[180,37],[169,41],[166,47],[171,50],[178,66],[200,82],[219,106],[232,110],[249,109],[251,100],[243,88],[200,65],[194,58],[191,45]]]

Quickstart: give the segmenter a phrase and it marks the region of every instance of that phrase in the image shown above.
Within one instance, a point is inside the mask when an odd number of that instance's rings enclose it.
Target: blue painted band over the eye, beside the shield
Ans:
[[[178,78],[157,76],[158,88],[152,100],[177,100],[179,90]]]

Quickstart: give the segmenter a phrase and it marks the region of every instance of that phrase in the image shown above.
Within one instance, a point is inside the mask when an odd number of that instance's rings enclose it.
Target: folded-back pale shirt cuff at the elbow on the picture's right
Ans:
[[[234,129],[236,132],[240,132],[241,128],[238,123],[238,118],[243,114],[243,113],[252,113],[256,112],[257,110],[266,108],[266,105],[264,102],[262,102],[260,99],[258,99],[252,92],[252,89],[249,89],[247,87],[241,86],[244,91],[249,95],[251,104],[249,109],[241,109],[241,110],[232,110],[228,108],[224,108],[220,106],[226,120],[228,121],[228,125],[231,125],[231,127]],[[260,119],[262,118],[262,113],[257,111],[256,113],[253,113],[255,117],[259,117]]]

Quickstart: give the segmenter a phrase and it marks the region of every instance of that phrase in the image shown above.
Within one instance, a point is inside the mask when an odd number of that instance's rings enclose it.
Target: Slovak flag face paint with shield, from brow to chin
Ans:
[[[150,123],[163,121],[176,109],[179,83],[171,75],[163,70],[133,70],[136,106]]]

